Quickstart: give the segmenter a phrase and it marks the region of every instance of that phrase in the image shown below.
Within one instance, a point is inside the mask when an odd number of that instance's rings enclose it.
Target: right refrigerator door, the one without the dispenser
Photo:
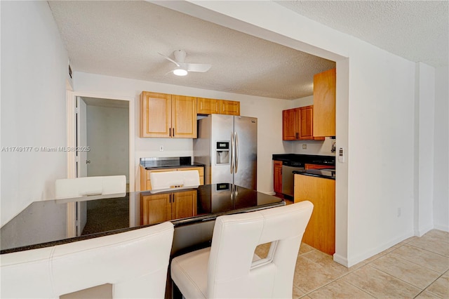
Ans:
[[[234,117],[234,184],[257,190],[257,118]]]

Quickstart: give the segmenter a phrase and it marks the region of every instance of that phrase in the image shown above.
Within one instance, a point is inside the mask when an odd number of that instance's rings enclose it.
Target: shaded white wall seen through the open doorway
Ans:
[[[128,108],[87,105],[88,176],[126,175],[129,182]]]

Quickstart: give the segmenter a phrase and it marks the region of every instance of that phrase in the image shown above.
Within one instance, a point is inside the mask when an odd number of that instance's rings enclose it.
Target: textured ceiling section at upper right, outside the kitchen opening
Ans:
[[[449,1],[276,1],[415,62],[449,63]]]

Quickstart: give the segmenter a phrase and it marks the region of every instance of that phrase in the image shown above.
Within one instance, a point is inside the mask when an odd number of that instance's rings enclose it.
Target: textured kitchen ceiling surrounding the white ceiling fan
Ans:
[[[49,1],[72,69],[215,91],[295,99],[335,62],[145,1]],[[206,73],[176,77],[173,51]]]

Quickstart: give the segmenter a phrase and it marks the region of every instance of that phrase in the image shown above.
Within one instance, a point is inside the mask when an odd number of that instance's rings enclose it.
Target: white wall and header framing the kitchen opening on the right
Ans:
[[[415,63],[271,1],[183,4],[191,15],[337,62],[337,147],[346,157],[336,165],[335,260],[351,266],[413,235]]]

